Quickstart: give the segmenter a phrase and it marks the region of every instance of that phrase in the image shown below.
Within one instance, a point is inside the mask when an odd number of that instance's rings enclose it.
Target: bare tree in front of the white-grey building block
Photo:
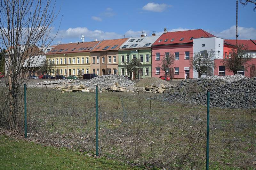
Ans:
[[[194,57],[189,59],[190,67],[195,69],[200,78],[210,68],[214,67],[214,51],[204,50],[199,53],[195,53]]]

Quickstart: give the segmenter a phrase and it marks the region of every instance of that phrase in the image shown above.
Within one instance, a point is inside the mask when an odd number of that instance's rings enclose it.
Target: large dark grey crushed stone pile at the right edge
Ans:
[[[191,79],[182,81],[164,96],[165,101],[206,105],[207,89],[210,106],[219,108],[256,108],[256,78],[237,80]]]

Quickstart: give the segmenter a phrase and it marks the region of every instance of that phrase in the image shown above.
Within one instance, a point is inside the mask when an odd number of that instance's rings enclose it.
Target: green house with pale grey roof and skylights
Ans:
[[[122,46],[119,48],[118,54],[118,74],[129,76],[129,72],[124,67],[125,62],[129,62],[134,58],[140,60],[141,68],[138,73],[132,74],[132,79],[145,78],[152,76],[152,50],[151,45],[160,36],[146,37],[142,35],[141,37],[129,38]]]

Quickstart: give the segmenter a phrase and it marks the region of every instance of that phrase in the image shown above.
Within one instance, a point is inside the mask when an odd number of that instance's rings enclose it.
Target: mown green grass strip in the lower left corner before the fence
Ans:
[[[0,136],[0,169],[140,169],[66,148]]]

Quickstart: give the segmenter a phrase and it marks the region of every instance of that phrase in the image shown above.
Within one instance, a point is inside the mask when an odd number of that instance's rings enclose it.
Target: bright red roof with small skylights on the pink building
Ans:
[[[176,32],[167,32],[163,33],[157,40],[154,42],[152,46],[157,45],[167,45],[167,44],[184,44],[184,43],[193,43],[193,39],[190,39],[193,37],[195,38],[209,38],[209,37],[215,37],[214,35],[210,34],[209,32],[206,32],[202,29],[198,30],[188,30],[188,31],[176,31]],[[182,41],[180,41],[181,38],[184,38]],[[161,42],[158,42],[160,39]],[[164,42],[166,39],[168,39],[166,42]],[[171,41],[174,39],[173,41]]]

